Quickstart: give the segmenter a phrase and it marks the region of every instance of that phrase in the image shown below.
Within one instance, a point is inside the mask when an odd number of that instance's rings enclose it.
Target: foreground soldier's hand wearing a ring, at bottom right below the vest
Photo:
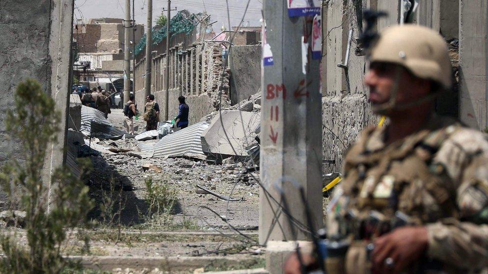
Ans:
[[[417,260],[427,249],[425,227],[403,227],[374,241],[373,272],[398,272]]]

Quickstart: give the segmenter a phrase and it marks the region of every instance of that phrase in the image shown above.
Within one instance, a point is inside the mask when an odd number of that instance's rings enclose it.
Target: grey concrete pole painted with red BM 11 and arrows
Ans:
[[[322,227],[323,214],[320,60],[313,60],[310,52],[312,22],[306,21],[310,17],[288,17],[283,0],[264,0],[263,8],[273,64],[261,66],[260,179],[264,189],[259,194],[259,243],[310,240],[310,235],[295,225],[299,222],[308,227],[297,186],[303,188],[311,230],[316,232]],[[294,229],[266,191],[277,202],[285,197],[296,221],[292,222]]]

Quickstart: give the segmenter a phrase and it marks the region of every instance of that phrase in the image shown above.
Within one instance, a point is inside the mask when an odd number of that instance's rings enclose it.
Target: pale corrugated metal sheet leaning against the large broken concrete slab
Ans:
[[[208,123],[199,122],[185,129],[166,135],[155,145],[139,144],[137,148],[141,152],[154,153],[153,158],[174,156],[200,156],[204,157],[201,150],[201,133],[208,128]]]

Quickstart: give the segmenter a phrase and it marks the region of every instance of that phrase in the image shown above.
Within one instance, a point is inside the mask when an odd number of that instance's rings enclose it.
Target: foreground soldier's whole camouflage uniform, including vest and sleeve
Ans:
[[[366,129],[347,152],[343,181],[327,208],[328,237],[367,244],[387,231],[376,227],[371,233],[361,221],[374,213],[391,224],[402,213],[409,225],[427,228],[424,258],[439,261],[449,272],[486,268],[486,135],[440,117],[390,145],[383,143],[384,134],[385,127]],[[364,268],[350,253],[346,268]]]

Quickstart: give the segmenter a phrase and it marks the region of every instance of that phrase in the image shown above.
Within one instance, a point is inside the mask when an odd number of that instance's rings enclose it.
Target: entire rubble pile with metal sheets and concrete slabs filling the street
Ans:
[[[212,88],[221,89],[221,83]],[[228,96],[223,100],[229,101]],[[146,132],[144,121],[139,120],[136,127],[141,130],[135,136],[125,132],[121,110],[112,110],[105,119],[100,111],[81,106],[80,125],[68,133],[67,163],[79,173],[76,159],[91,158],[94,170],[88,185],[95,200],[102,199],[100,190],[110,185],[123,191],[124,225],[141,222],[145,181],[151,178],[177,189],[175,219],[189,218],[200,227],[228,229],[228,221],[237,228],[257,229],[259,144],[255,129],[260,121],[259,104],[260,94],[252,95],[240,106],[227,104],[210,113],[206,121],[185,129],[160,122],[157,130]]]

